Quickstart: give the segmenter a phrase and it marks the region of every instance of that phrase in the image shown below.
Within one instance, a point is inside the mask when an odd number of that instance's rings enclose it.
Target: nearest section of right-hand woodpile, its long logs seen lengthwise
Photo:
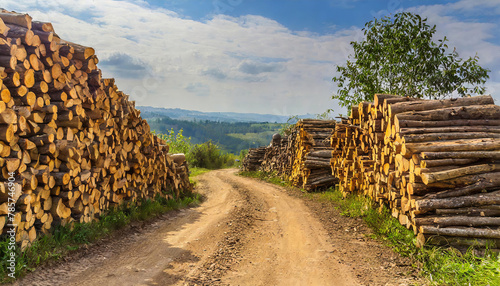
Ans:
[[[491,96],[399,102],[385,117],[397,174],[408,178],[399,216],[418,243],[500,248],[500,107]]]

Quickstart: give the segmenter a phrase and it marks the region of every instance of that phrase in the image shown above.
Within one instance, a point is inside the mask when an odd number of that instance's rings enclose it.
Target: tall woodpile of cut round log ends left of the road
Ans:
[[[0,232],[17,225],[25,247],[55,225],[191,190],[185,160],[168,154],[114,79],[102,78],[94,49],[5,10],[0,33]]]

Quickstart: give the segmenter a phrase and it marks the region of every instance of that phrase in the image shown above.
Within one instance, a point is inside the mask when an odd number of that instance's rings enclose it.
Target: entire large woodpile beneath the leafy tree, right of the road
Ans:
[[[343,123],[331,142],[344,193],[387,204],[419,245],[500,248],[500,107],[490,96],[381,94]]]

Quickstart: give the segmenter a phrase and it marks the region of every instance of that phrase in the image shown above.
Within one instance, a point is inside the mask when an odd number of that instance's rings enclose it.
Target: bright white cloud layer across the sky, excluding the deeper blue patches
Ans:
[[[194,21],[141,0],[0,0],[0,6],[27,12],[54,24],[68,41],[92,46],[104,77],[116,77],[138,105],[203,111],[278,114],[345,110],[330,99],[334,65],[344,64],[349,42],[361,27],[317,35],[291,31],[262,16],[215,15]],[[412,8],[438,24],[463,55],[479,53],[481,64],[500,82],[498,46],[489,42],[498,23],[461,20],[471,3]],[[481,1],[493,13],[498,1]],[[38,8],[41,7],[41,8]],[[80,20],[83,19],[83,20]],[[143,68],[141,68],[143,67]],[[127,70],[128,69],[128,70]],[[492,83],[490,86],[500,85]]]

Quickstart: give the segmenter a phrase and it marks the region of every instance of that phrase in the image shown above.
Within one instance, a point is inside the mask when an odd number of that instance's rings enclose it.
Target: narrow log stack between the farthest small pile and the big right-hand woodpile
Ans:
[[[334,120],[302,119],[296,124],[296,139],[289,180],[307,191],[334,185],[330,160],[330,136],[335,129]]]

